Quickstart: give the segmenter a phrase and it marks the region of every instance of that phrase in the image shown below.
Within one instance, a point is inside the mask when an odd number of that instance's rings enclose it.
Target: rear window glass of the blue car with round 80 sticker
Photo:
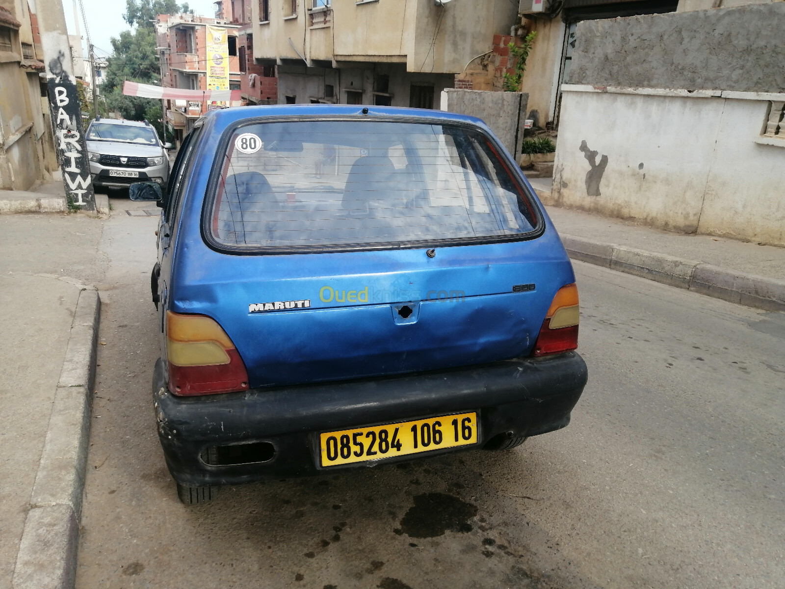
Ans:
[[[240,127],[210,221],[225,247],[298,250],[504,238],[537,224],[484,134],[378,121]]]

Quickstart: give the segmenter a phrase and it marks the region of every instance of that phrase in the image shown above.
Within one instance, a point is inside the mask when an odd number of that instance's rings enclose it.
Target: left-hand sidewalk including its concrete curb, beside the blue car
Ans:
[[[62,528],[79,508],[74,433],[87,415],[98,305],[90,285],[103,276],[103,223],[85,214],[0,216],[0,589],[49,586],[39,561],[59,564]],[[20,566],[23,539],[38,556]]]

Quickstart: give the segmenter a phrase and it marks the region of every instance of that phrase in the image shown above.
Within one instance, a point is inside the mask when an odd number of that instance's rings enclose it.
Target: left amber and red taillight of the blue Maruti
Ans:
[[[248,389],[243,359],[211,317],[166,311],[169,390],[175,395],[211,395]]]

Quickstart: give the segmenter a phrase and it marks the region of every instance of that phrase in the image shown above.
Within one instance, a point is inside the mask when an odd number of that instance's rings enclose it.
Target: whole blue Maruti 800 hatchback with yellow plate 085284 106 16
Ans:
[[[133,199],[159,199],[136,184]],[[184,503],[220,485],[508,449],[586,384],[575,275],[479,119],[228,108],[183,141],[152,276]]]

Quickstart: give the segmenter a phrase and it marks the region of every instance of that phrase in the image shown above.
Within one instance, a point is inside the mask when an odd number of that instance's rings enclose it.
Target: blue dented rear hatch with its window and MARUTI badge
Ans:
[[[374,124],[261,123],[227,141],[213,251],[184,262],[175,310],[224,327],[250,386],[522,357],[571,281],[485,134]]]

